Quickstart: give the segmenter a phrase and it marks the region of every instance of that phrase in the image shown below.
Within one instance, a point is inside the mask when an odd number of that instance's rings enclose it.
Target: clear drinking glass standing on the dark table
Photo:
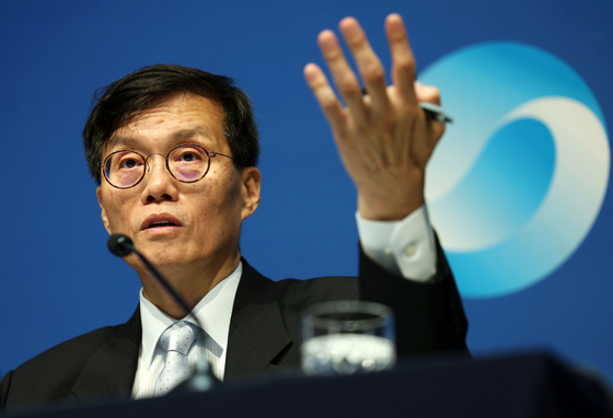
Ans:
[[[396,361],[394,315],[374,302],[335,301],[302,313],[302,370],[309,375],[390,369]]]

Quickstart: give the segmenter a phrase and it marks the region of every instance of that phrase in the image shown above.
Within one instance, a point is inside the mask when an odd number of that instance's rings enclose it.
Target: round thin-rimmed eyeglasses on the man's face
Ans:
[[[234,160],[230,155],[207,151],[197,143],[182,143],[166,155],[149,154],[147,158],[134,150],[119,150],[111,153],[102,163],[102,173],[109,185],[116,188],[130,188],[142,181],[146,172],[151,171],[148,161],[152,155],[160,155],[166,160],[166,170],[183,183],[195,183],[207,175],[210,159],[217,155]]]

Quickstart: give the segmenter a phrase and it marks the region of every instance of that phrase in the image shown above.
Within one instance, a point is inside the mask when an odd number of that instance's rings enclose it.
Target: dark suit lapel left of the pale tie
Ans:
[[[92,355],[72,386],[72,394],[80,400],[108,394],[131,395],[142,338],[140,309],[137,307],[126,324],[109,333],[107,341]]]

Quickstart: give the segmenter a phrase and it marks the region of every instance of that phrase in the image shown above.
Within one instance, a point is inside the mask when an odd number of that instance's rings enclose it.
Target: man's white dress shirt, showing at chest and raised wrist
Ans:
[[[389,271],[403,277],[426,281],[437,271],[437,253],[435,235],[426,207],[410,213],[402,221],[380,222],[362,219],[356,214],[358,233],[363,252]],[[194,313],[205,327],[210,338],[205,347],[207,359],[213,374],[223,380],[230,317],[234,297],[243,271],[239,263],[234,271],[217,285],[198,304]],[[153,396],[155,380],[164,367],[164,352],[158,340],[175,320],[160,311],[147,300],[140,290],[140,318],[142,323],[142,342],[138,357],[138,367],[132,386],[132,398]],[[190,321],[186,317],[184,321]],[[198,344],[189,350],[189,363],[197,360]]]

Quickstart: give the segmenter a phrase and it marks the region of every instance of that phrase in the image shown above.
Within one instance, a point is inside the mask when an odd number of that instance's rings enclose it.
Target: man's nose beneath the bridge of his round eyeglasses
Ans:
[[[153,159],[159,155],[161,159]],[[178,198],[176,188],[177,181],[166,170],[166,158],[162,154],[151,154],[144,161],[147,173],[144,174],[144,188],[141,200],[143,204],[174,201]]]

